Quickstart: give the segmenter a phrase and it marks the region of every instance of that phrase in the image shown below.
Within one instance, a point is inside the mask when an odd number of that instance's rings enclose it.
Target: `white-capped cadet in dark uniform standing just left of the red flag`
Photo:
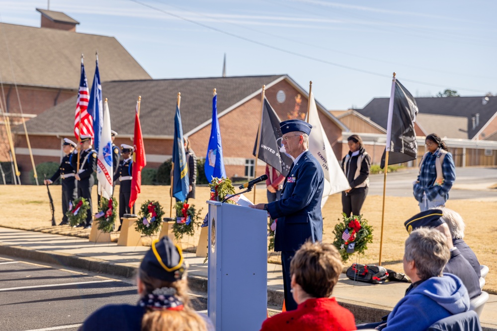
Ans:
[[[121,183],[119,188],[119,219],[122,225],[122,217],[131,211],[129,198],[131,196],[131,180],[133,179],[133,159],[131,157],[133,146],[121,144],[121,152],[123,160],[119,163],[119,168],[114,174],[114,182],[119,178],[119,182]],[[119,225],[117,231],[121,230],[121,225]]]

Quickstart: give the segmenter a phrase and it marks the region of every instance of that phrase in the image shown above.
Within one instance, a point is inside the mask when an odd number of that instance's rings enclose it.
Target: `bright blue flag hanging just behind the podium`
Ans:
[[[204,165],[205,177],[210,182],[213,177],[226,177],[223,161],[223,145],[221,144],[221,132],[219,131],[219,121],[217,119],[217,94],[212,98],[212,124],[211,137],[207,147],[207,155]]]

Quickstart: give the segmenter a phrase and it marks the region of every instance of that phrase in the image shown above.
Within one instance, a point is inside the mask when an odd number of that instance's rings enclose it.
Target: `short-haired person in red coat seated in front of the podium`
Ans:
[[[331,297],[342,270],[331,244],[306,242],[290,264],[292,294],[298,306],[266,319],[260,331],[356,330],[354,315]]]

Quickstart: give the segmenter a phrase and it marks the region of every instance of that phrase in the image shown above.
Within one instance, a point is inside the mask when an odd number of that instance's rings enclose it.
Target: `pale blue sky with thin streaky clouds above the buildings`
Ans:
[[[1,22],[40,25],[47,0],[0,0]],[[153,78],[289,74],[331,110],[389,96],[497,93],[497,1],[50,0],[114,36]],[[102,80],[105,73],[101,72]]]

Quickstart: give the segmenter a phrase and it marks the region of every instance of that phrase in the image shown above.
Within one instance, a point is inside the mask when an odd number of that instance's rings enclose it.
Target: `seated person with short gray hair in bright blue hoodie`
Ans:
[[[430,228],[414,230],[406,239],[404,272],[412,284],[385,322],[358,326],[383,331],[424,331],[433,323],[469,310],[468,291],[461,280],[443,274],[449,261],[447,239]]]

